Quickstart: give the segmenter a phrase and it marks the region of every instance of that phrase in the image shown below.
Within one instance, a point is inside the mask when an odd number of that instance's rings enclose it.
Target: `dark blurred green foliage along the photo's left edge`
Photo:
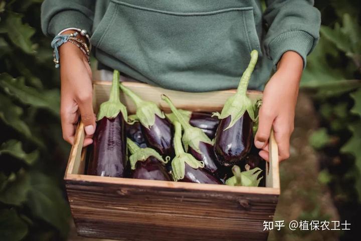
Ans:
[[[0,0],[0,240],[65,240],[59,80],[39,0]]]

